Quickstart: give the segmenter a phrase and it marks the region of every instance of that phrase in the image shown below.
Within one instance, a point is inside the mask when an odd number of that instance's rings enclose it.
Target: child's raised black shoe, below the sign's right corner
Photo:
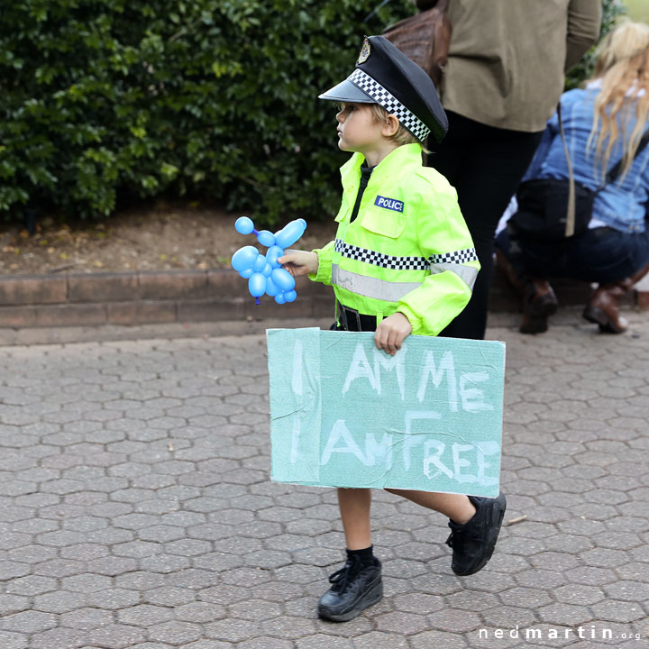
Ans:
[[[507,500],[503,494],[498,498],[469,496],[476,508],[468,523],[459,525],[449,521],[451,535],[446,544],[452,548],[452,571],[461,576],[473,574],[485,567],[498,540]]]

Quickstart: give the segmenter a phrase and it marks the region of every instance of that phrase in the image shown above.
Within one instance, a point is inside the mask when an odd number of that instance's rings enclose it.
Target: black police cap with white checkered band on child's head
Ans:
[[[441,142],[448,131],[448,120],[431,78],[383,36],[366,37],[356,69],[320,99],[379,104],[395,114],[420,142],[429,133]]]

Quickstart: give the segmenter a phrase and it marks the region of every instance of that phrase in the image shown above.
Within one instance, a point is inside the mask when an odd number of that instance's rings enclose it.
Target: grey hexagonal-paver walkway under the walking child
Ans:
[[[0,348],[0,647],[647,646],[634,319],[489,330],[507,341],[506,520],[526,519],[460,579],[443,517],[379,493],[386,597],[343,625],[315,617],[343,556],[334,492],[269,481],[263,336]]]

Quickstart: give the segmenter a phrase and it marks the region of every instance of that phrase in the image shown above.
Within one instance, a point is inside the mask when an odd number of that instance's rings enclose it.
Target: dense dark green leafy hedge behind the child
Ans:
[[[118,194],[203,195],[268,223],[330,212],[318,92],[394,0],[12,0],[0,13],[0,212],[109,215]]]

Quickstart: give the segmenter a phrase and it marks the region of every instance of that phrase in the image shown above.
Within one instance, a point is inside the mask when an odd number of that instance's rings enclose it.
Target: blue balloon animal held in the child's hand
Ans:
[[[278,257],[284,249],[293,245],[304,234],[306,221],[297,219],[285,225],[276,233],[268,230],[255,230],[252,219],[241,216],[234,223],[234,229],[241,234],[254,234],[261,245],[268,251],[261,254],[254,246],[243,246],[233,254],[232,267],[243,279],[248,279],[248,290],[255,303],[260,304],[260,297],[266,294],[274,297],[278,304],[293,302],[297,298],[295,279],[278,263]]]

